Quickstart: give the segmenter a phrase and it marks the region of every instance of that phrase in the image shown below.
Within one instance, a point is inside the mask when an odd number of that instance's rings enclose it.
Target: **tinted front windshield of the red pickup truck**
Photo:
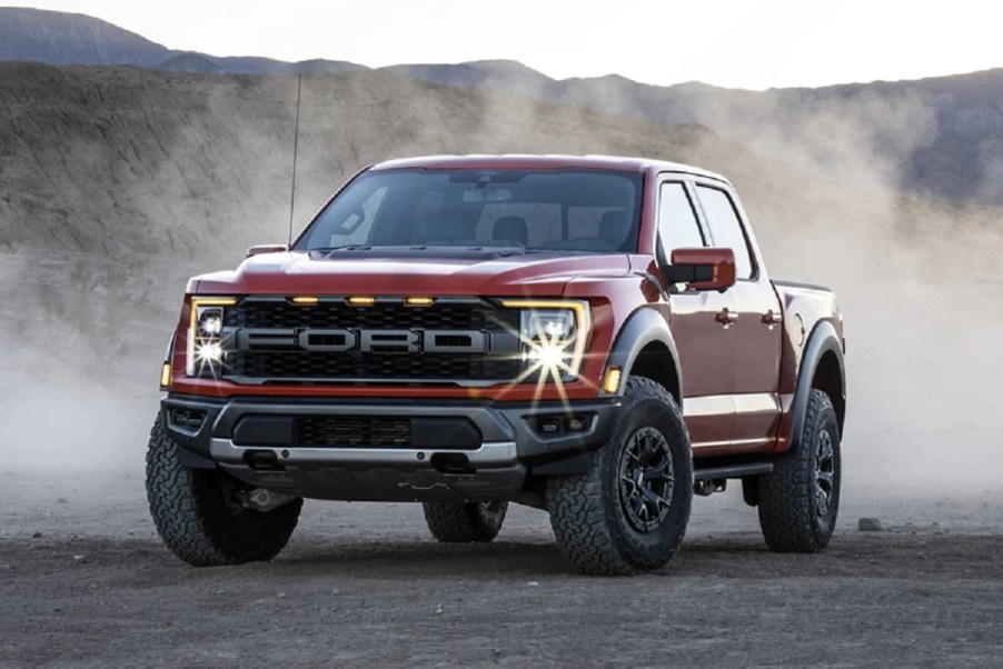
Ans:
[[[637,249],[642,176],[602,170],[377,170],[318,214],[296,250]]]

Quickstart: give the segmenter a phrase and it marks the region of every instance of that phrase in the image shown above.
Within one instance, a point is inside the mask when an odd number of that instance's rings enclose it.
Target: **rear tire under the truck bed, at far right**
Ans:
[[[769,550],[825,550],[836,527],[841,479],[840,421],[828,396],[812,390],[797,447],[774,460],[772,473],[759,476],[759,527]]]

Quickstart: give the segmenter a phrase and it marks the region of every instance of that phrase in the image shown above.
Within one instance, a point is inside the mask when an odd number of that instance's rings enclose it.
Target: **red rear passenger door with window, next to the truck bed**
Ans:
[[[737,201],[725,189],[708,184],[697,184],[696,192],[712,244],[735,252],[737,280],[728,291],[737,317],[732,442],[735,450],[759,450],[773,445],[781,416],[781,303],[758,266]]]

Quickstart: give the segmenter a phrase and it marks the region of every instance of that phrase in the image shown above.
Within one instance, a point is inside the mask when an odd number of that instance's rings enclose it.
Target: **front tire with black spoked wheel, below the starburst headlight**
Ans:
[[[627,381],[623,407],[613,427],[609,443],[595,452],[588,473],[552,477],[547,481],[550,526],[567,559],[582,572],[595,576],[626,576],[656,571],[679,550],[693,503],[693,455],[689,432],[672,395],[659,383],[643,377]],[[659,440],[661,436],[661,440]],[[639,450],[638,450],[639,449]],[[626,476],[648,471],[634,456],[659,453],[658,513],[647,529],[638,523],[636,508],[640,483]],[[668,453],[668,457],[665,456]],[[646,462],[652,462],[655,456]],[[667,462],[667,466],[666,466]],[[658,469],[653,467],[652,470]],[[646,481],[647,479],[645,479]],[[635,486],[633,487],[632,486]],[[634,490],[634,495],[628,491]],[[661,520],[659,520],[661,518]]]

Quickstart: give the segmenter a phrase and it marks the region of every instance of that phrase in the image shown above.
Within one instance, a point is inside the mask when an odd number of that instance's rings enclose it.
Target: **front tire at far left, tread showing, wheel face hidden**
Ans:
[[[239,486],[218,469],[183,467],[157,417],[147,451],[147,500],[157,532],[176,556],[209,567],[270,560],[285,548],[302,500],[267,512],[246,509],[225,499]]]

